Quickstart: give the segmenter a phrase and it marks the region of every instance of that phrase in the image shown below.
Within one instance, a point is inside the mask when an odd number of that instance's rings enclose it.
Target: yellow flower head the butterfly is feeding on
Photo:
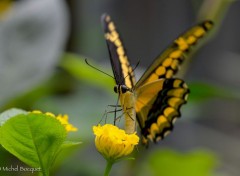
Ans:
[[[93,126],[93,132],[96,135],[97,150],[108,161],[116,161],[129,155],[139,142],[136,133],[126,134],[124,130],[111,124]]]

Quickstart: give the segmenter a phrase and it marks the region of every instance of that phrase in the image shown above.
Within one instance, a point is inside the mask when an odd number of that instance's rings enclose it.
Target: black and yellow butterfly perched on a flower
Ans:
[[[213,23],[204,21],[180,35],[154,60],[137,83],[120,35],[109,15],[102,16],[102,24],[116,81],[114,91],[119,94],[125,115],[125,131],[136,131],[137,120],[144,144],[149,140],[163,139],[180,117],[180,108],[189,94],[186,83],[173,76]]]

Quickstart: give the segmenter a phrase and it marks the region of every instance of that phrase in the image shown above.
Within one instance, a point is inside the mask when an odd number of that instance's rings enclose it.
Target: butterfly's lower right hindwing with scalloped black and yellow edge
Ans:
[[[174,78],[158,79],[136,90],[135,109],[144,144],[148,139],[156,142],[172,130],[188,94],[186,83]]]

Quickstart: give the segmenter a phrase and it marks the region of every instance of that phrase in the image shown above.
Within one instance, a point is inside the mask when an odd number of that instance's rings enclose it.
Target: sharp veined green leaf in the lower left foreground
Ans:
[[[20,114],[4,123],[0,138],[6,150],[48,175],[66,139],[66,130],[57,119],[45,114]]]

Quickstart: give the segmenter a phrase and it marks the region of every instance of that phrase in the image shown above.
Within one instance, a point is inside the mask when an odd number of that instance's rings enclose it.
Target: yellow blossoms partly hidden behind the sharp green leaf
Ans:
[[[35,114],[42,114],[41,111],[38,111],[38,110],[34,110],[32,111],[32,113],[35,113]],[[70,131],[77,131],[78,129],[73,126],[72,124],[70,124],[68,122],[68,115],[61,115],[59,114],[58,116],[55,116],[53,113],[51,112],[46,112],[45,113],[46,115],[50,116],[50,117],[53,117],[53,118],[56,118],[57,120],[60,121],[60,123],[65,127],[66,131],[67,132],[70,132]]]

